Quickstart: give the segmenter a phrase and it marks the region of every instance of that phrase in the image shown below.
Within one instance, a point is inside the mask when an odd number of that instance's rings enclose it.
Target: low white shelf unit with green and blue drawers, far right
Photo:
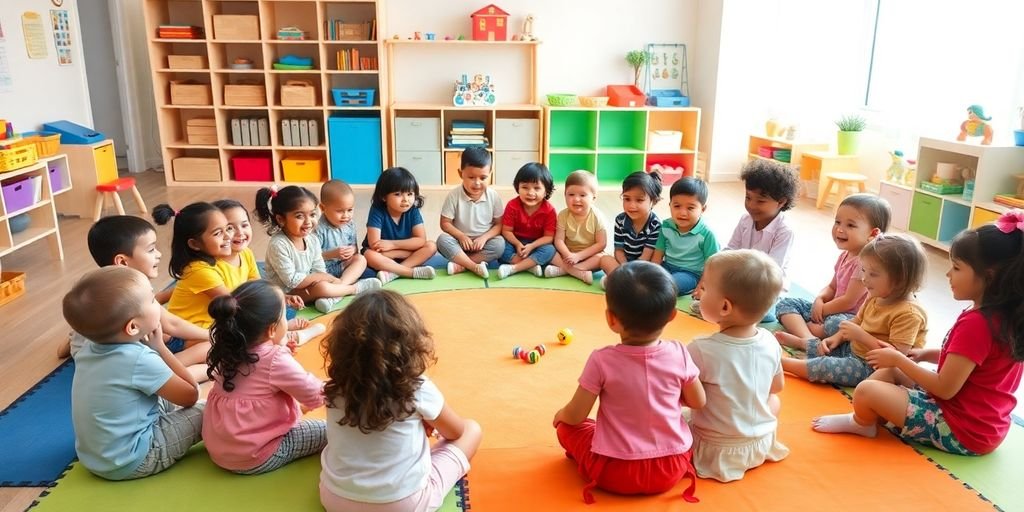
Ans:
[[[952,163],[975,170],[974,196],[940,195],[925,190],[938,163]],[[918,177],[911,188],[883,182],[881,195],[893,207],[894,227],[907,229],[923,243],[948,251],[958,232],[994,220],[1010,210],[992,202],[997,194],[1013,194],[1016,174],[1024,170],[1024,147],[976,145],[951,140],[921,138]],[[905,226],[903,219],[906,219]]]

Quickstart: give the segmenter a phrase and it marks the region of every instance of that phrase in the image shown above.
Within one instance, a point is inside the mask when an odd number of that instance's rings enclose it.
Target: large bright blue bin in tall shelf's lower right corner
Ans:
[[[381,158],[381,119],[377,113],[367,117],[329,118],[328,142],[331,151],[331,177],[350,184],[372,185],[383,170]]]

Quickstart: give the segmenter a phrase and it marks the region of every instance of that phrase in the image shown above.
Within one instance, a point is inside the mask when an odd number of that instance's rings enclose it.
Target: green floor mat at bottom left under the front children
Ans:
[[[323,510],[319,470],[319,458],[306,457],[266,474],[236,475],[215,466],[199,444],[167,471],[138,480],[103,480],[76,463],[33,510]],[[452,489],[439,510],[463,511],[462,489]]]

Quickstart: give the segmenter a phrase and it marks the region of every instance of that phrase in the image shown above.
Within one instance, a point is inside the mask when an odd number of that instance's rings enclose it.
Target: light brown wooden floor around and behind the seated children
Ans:
[[[136,175],[139,189],[152,209],[168,203],[180,209],[196,201],[214,201],[230,198],[252,206],[255,187],[174,187],[166,188],[164,175],[146,172]],[[560,187],[559,187],[560,188]],[[709,225],[722,245],[728,242],[736,220],[743,212],[742,183],[714,183],[706,213]],[[318,190],[313,190],[318,193]],[[511,190],[500,190],[503,199],[511,199]],[[427,200],[423,217],[427,219],[427,232],[431,238],[439,233],[437,219],[445,191],[434,189],[425,194]],[[356,193],[356,222],[365,225],[370,190]],[[552,198],[555,207],[564,206],[561,190]],[[663,217],[668,214],[667,201],[655,211]],[[137,214],[131,201],[125,203],[129,214]],[[602,191],[598,208],[611,218],[622,211],[617,190]],[[108,212],[110,213],[110,212]],[[255,220],[255,219],[254,219]],[[815,292],[831,278],[833,264],[839,252],[830,238],[833,223],[830,210],[816,210],[813,202],[801,200],[800,205],[787,214],[787,220],[798,237],[791,263],[791,278],[803,288]],[[60,311],[60,300],[72,284],[83,272],[95,268],[86,246],[86,233],[91,219],[61,218],[60,232],[63,240],[65,261],[55,260],[45,242],[38,242],[20,251],[5,256],[4,270],[26,272],[26,294],[0,307],[0,410],[22,395],[27,389],[50,373],[60,360],[56,357],[58,345],[66,339],[69,328]],[[254,226],[253,250],[262,260],[266,250],[265,232]],[[161,261],[163,278],[155,287],[162,288],[170,282],[167,264],[170,260],[171,225],[158,227],[158,240],[164,257]],[[952,325],[956,314],[966,304],[952,300],[945,271],[948,268],[946,253],[928,249],[929,273],[925,289],[919,294],[929,312],[928,342],[937,346]],[[1020,414],[1018,412],[1018,414]],[[0,488],[0,511],[20,511],[28,507],[43,489]]]

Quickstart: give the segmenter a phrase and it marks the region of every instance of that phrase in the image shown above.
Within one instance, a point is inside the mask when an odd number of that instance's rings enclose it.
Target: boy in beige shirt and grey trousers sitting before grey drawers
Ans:
[[[487,263],[505,253],[502,238],[502,199],[490,181],[490,153],[467,147],[459,166],[462,184],[453,188],[441,205],[441,232],[437,252],[449,260],[449,275],[469,269],[487,279]]]

